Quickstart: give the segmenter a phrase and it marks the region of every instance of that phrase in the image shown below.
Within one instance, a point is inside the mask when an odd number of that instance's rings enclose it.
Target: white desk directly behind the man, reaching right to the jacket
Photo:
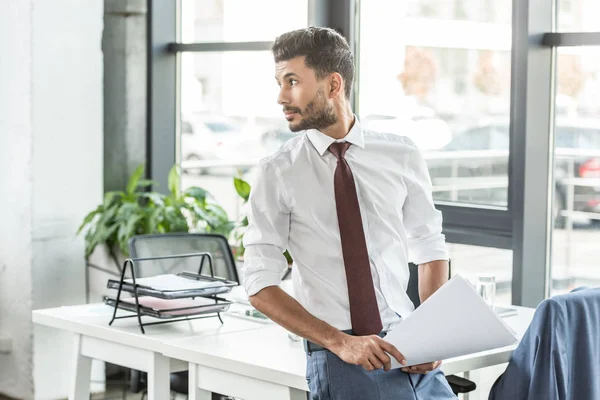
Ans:
[[[534,309],[519,308],[506,323],[523,335]],[[445,374],[508,362],[516,345],[444,360]],[[190,363],[190,400],[209,400],[218,392],[244,400],[305,400],[306,356],[279,326],[166,343],[164,354]]]

